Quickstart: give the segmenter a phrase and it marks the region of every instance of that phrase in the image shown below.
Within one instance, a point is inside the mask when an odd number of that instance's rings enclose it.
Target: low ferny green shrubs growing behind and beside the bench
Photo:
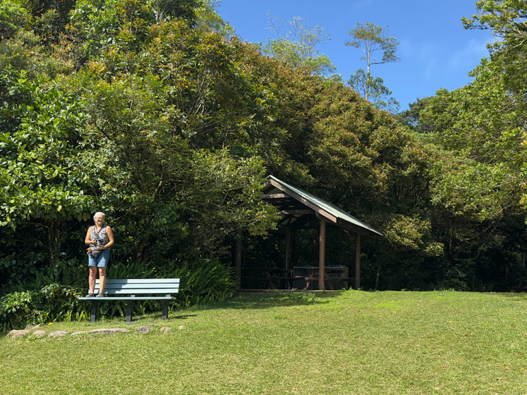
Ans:
[[[135,261],[116,263],[108,269],[108,278],[180,278],[180,291],[172,308],[195,304],[221,302],[235,291],[233,269],[219,259],[198,259],[191,263],[169,261],[155,266]],[[88,278],[86,277],[86,290]],[[51,283],[37,291],[13,292],[1,298],[0,328],[2,331],[23,328],[41,322],[84,320],[89,317],[89,302],[80,302],[82,290]],[[99,303],[100,317],[124,317],[125,302]],[[161,303],[153,300],[136,302],[134,314],[161,310]]]

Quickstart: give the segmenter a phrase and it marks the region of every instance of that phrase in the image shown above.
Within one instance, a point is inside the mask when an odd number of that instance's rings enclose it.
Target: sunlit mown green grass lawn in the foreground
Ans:
[[[0,393],[525,395],[526,312],[526,294],[300,291],[241,295],[165,322],[55,323],[43,329],[130,333],[4,334]],[[144,325],[154,330],[134,332]]]

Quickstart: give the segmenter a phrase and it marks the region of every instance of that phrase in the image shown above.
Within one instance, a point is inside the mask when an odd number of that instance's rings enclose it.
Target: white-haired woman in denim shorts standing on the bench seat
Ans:
[[[95,296],[95,278],[97,278],[97,268],[99,269],[99,294],[103,296],[104,285],[106,284],[106,267],[110,260],[109,248],[113,246],[113,231],[110,226],[104,224],[104,213],[93,215],[94,226],[90,226],[86,232],[86,243],[88,247],[88,267],[90,291],[86,296]]]

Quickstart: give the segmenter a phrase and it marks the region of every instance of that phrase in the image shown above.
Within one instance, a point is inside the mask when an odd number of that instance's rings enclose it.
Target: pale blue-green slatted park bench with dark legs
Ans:
[[[99,292],[99,279],[95,280],[95,295]],[[107,279],[103,297],[82,297],[79,300],[91,302],[90,321],[95,322],[97,303],[124,300],[126,302],[126,322],[132,322],[132,310],[136,300],[161,300],[163,310],[161,318],[168,318],[168,302],[172,294],[179,292],[179,278],[120,278]]]

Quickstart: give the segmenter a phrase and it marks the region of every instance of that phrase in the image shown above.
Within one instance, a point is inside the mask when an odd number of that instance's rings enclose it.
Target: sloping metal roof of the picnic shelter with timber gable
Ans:
[[[312,193],[294,187],[271,175],[267,176],[267,179],[263,189],[264,199],[281,211],[283,219],[279,226],[290,226],[295,222],[305,220],[307,217],[317,215],[324,217],[328,222],[353,230],[360,235],[383,236],[378,230]]]

